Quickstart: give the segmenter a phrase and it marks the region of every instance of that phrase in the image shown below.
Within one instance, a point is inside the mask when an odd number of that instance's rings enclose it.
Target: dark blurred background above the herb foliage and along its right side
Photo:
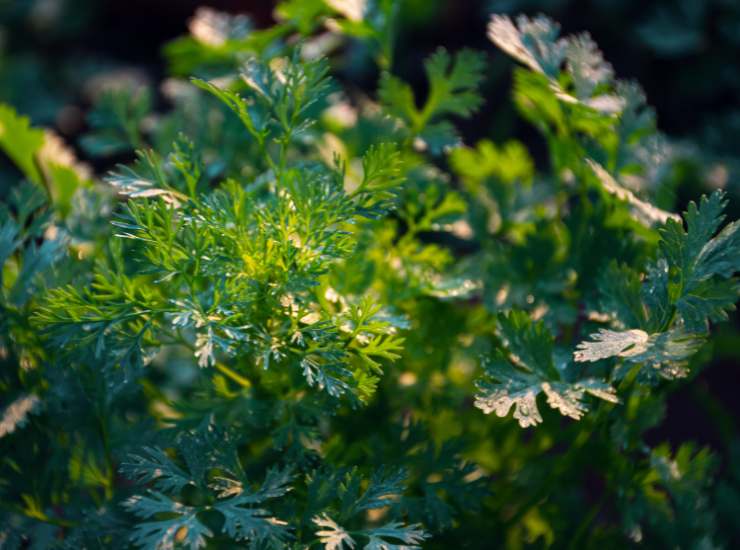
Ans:
[[[37,125],[54,127],[74,146],[87,129],[96,76],[119,72],[157,90],[167,76],[163,46],[187,32],[188,19],[202,5],[248,14],[257,27],[273,21],[268,0],[0,0],[0,101]],[[462,124],[465,142],[514,136],[544,165],[541,138],[510,101],[511,62],[485,37],[493,12],[544,13],[565,33],[590,32],[617,76],[644,87],[660,129],[700,160],[701,169],[677,190],[677,205],[723,186],[730,216],[740,217],[740,0],[404,0],[394,72],[423,93],[421,61],[436,47],[487,52],[486,107]],[[349,65],[343,75],[369,91],[378,76],[369,64]],[[167,109],[161,95],[155,102]],[[78,154],[85,158],[84,150]],[[108,168],[87,160],[98,170]],[[127,159],[110,162],[121,160]],[[709,367],[681,382],[670,398],[654,441],[737,447],[737,315],[718,327],[711,353]]]

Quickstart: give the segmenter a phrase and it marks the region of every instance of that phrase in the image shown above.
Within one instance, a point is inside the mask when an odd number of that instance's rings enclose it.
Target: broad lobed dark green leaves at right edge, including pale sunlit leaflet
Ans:
[[[740,226],[733,222],[717,233],[725,204],[716,191],[699,206],[689,204],[685,228],[669,219],[644,282],[626,267],[609,268],[602,304],[627,330],[602,330],[582,342],[577,361],[623,357],[668,378],[685,374],[708,323],[726,319],[740,296]]]

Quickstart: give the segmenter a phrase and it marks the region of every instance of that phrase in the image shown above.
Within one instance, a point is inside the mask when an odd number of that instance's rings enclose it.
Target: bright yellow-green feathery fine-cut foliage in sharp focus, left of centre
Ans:
[[[142,161],[148,172],[124,169],[110,181],[137,199],[161,197],[130,202],[113,222],[149,267],[128,276],[118,247],[91,291],[53,291],[40,320],[55,327],[60,344],[85,325],[98,359],[108,350],[111,366],[122,357],[141,366],[148,342],[174,339],[193,350],[200,367],[249,353],[264,370],[288,361],[311,386],[365,399],[381,370],[374,358],[396,358],[402,339],[368,300],[327,303],[320,278],[349,253],[352,224],[377,202],[373,192],[389,187],[383,176],[393,174],[372,174],[378,183],[358,188],[354,200],[342,172],[317,164],[281,172],[285,188],[276,195],[229,180],[187,197],[167,185],[154,154]],[[141,284],[147,280],[156,285]],[[122,347],[111,353],[116,341]]]

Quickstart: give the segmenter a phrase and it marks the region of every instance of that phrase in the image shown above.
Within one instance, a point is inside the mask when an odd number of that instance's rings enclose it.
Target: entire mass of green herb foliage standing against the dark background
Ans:
[[[731,546],[736,468],[652,444],[740,296],[731,197],[672,213],[639,87],[544,17],[489,36],[549,165],[463,144],[486,58],[420,101],[396,10],[199,10],[171,109],[92,110],[104,176],[0,106],[2,548]]]

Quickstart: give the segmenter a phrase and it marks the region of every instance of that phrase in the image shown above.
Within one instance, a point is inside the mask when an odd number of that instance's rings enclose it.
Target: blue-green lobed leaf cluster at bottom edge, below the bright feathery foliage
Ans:
[[[123,504],[147,520],[138,523],[131,535],[136,546],[204,548],[214,536],[204,519],[211,510],[222,516],[220,530],[233,541],[279,547],[291,538],[286,523],[265,508],[290,491],[289,471],[269,470],[260,487],[252,490],[233,444],[212,425],[183,434],[178,449],[182,465],[160,448],[144,448],[121,465],[121,473],[152,487]],[[200,491],[207,504],[187,504],[182,492],[186,486]]]

